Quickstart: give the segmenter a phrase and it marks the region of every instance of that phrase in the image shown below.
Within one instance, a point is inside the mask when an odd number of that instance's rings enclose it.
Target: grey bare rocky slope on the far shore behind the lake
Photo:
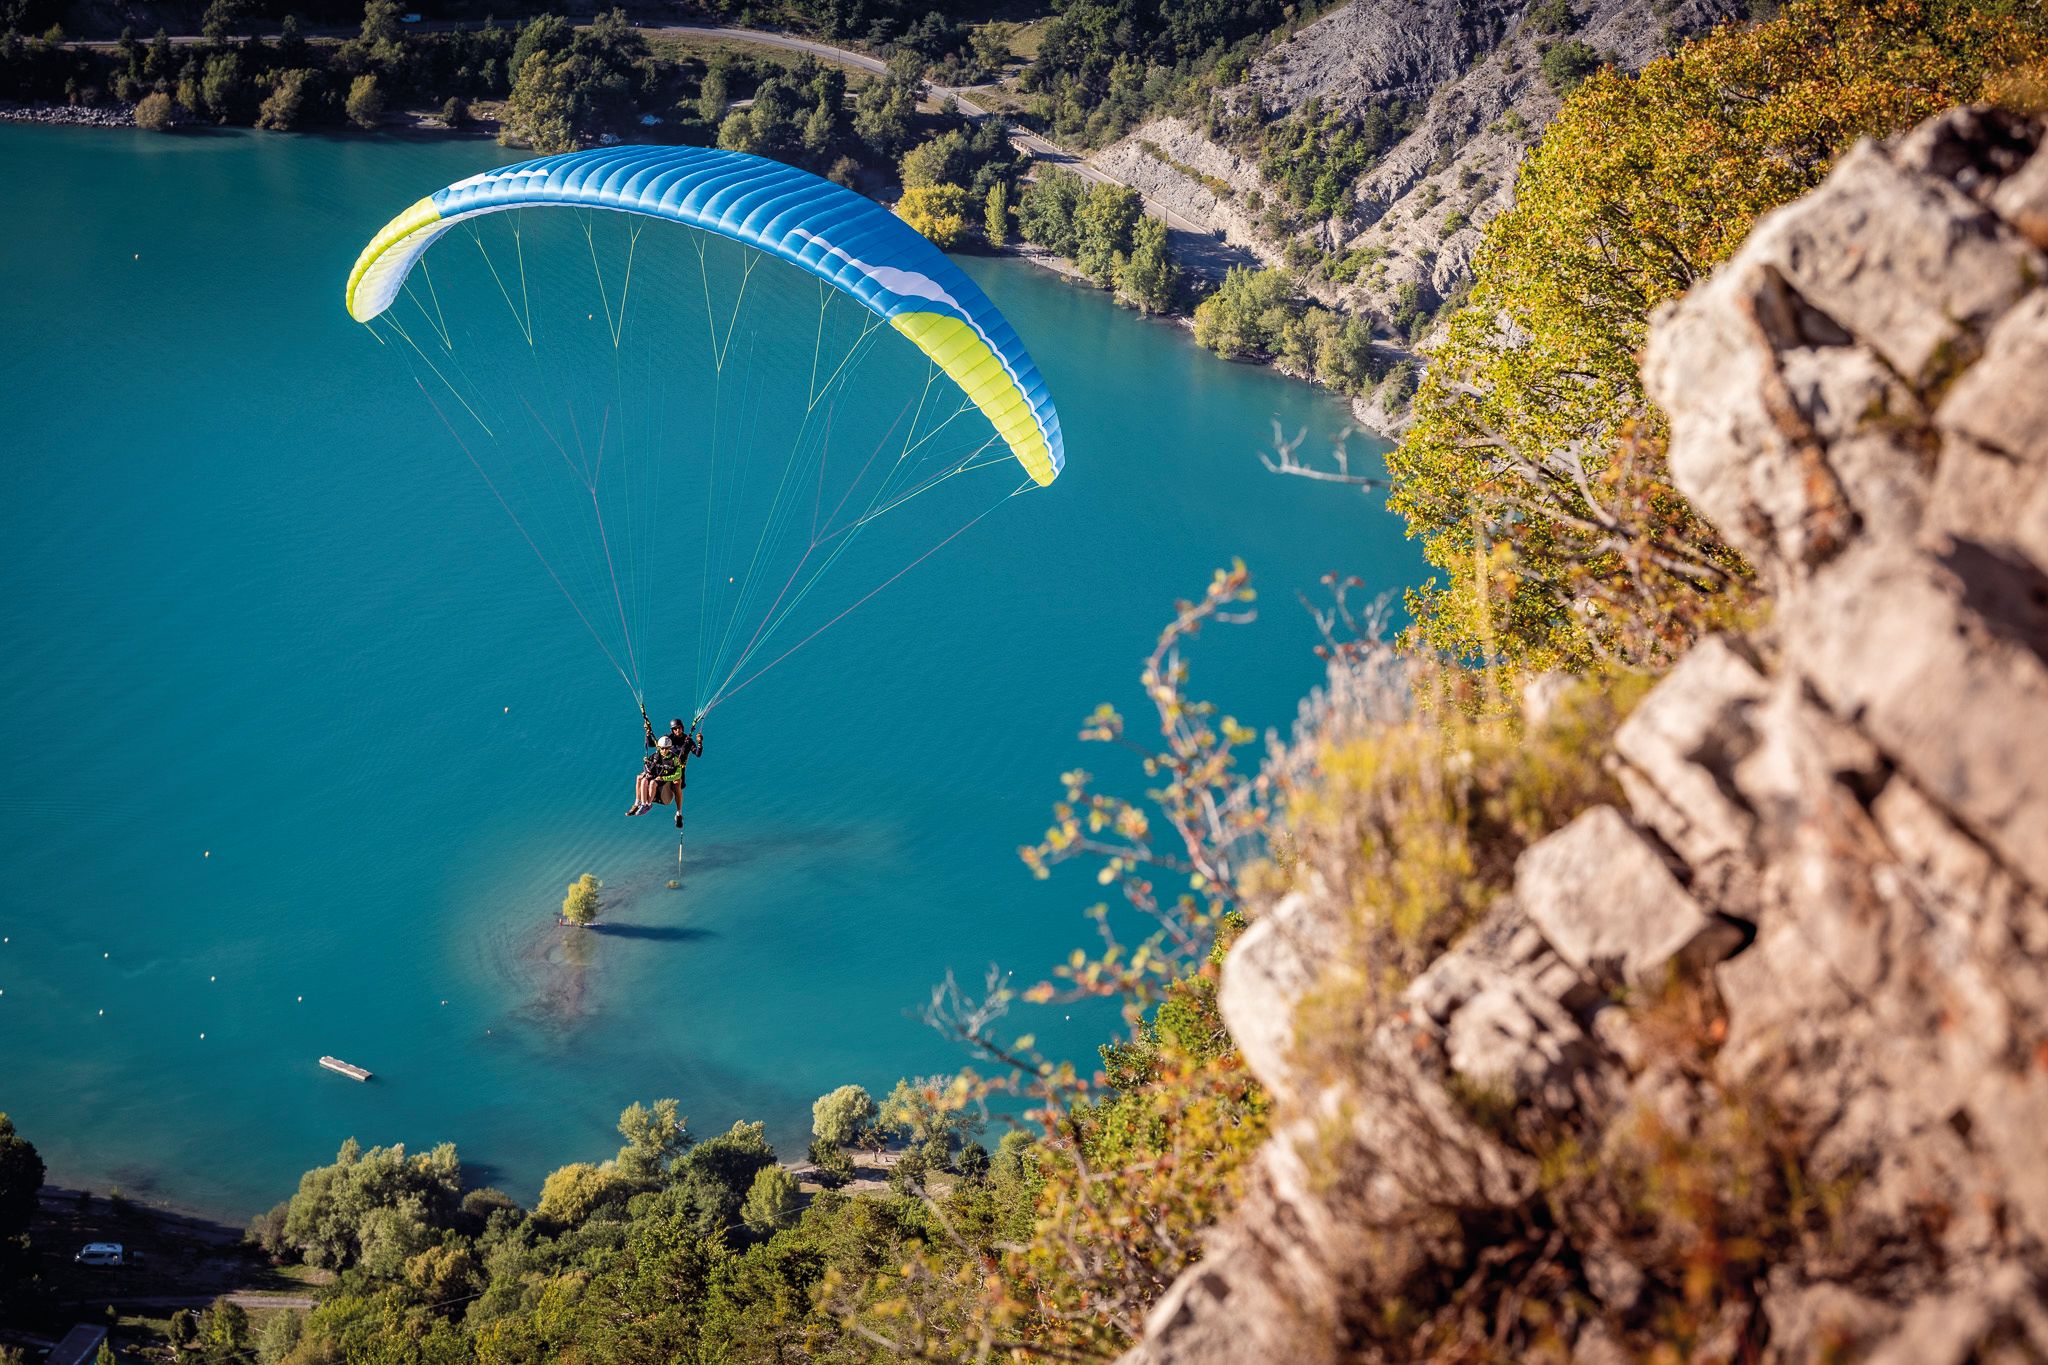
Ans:
[[[1305,284],[1405,342],[1395,323],[1403,287],[1419,287],[1425,309],[1460,289],[1479,227],[1509,203],[1522,151],[1556,113],[1544,51],[1583,43],[1638,70],[1743,12],[1741,0],[1354,0],[1221,92],[1208,121],[1217,135],[1192,119],[1155,119],[1092,160],[1268,264],[1288,260],[1292,237],[1331,254],[1368,250],[1374,260],[1356,280],[1305,272]],[[1253,104],[1272,121],[1311,102],[1348,121],[1407,108],[1413,127],[1358,176],[1337,215],[1278,229],[1278,190],[1262,178],[1255,147],[1229,129]]]

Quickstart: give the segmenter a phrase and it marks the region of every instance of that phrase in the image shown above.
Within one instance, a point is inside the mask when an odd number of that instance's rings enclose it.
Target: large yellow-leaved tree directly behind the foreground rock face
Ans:
[[[1747,573],[1671,487],[1642,395],[1651,311],[1858,137],[2040,61],[2040,6],[1800,0],[1587,78],[1487,223],[1389,456],[1389,503],[1438,569],[1409,598],[1425,639],[1509,669],[1655,667],[1741,612]]]

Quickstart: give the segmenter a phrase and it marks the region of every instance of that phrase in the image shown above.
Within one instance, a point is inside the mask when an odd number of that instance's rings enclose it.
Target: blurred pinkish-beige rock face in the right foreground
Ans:
[[[1718,988],[1716,1081],[1839,1201],[1692,1359],[2048,1357],[2044,252],[2042,125],[1956,111],[1851,151],[1657,319],[1673,471],[1772,624],[1659,681],[1614,741],[1628,808],[1532,845],[1348,1085],[1290,1064],[1339,911],[1294,892],[1239,939],[1221,1001],[1274,1136],[1128,1359],[1362,1359],[1348,1324],[1436,1254],[1401,1240],[1419,1212],[1532,1201],[1473,1087],[1587,1142],[1628,1105],[1712,1121],[1618,1007],[1673,972]],[[1581,1263],[1604,1308],[1640,1293],[1626,1257]],[[1563,1330],[1630,1359],[1593,1316]]]

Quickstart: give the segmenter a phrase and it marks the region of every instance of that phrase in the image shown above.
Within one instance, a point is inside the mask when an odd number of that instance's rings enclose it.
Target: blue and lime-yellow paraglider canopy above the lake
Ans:
[[[434,190],[379,231],[348,272],[348,315],[383,313],[420,256],[463,219],[506,209],[614,209],[670,219],[797,264],[909,338],[995,426],[1038,485],[1065,465],[1038,366],[987,295],[881,205],[745,151],[600,147],[487,170]]]

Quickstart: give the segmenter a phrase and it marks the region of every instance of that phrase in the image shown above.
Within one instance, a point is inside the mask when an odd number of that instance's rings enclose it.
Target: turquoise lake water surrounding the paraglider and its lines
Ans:
[[[340,305],[391,213],[508,160],[0,125],[0,1109],[59,1179],[240,1218],[348,1136],[453,1140],[530,1199],[659,1095],[801,1154],[825,1089],[965,1062],[915,1017],[948,970],[1090,941],[1092,876],[1016,847],[1063,769],[1141,786],[1075,729],[1143,724],[1176,598],[1251,565],[1260,620],[1204,634],[1196,690],[1268,726],[1319,677],[1294,593],[1417,577],[1374,501],[1257,463],[1341,403],[969,258],[1067,473],[713,714],[666,890],[618,675]],[[563,948],[582,872],[612,931]]]

